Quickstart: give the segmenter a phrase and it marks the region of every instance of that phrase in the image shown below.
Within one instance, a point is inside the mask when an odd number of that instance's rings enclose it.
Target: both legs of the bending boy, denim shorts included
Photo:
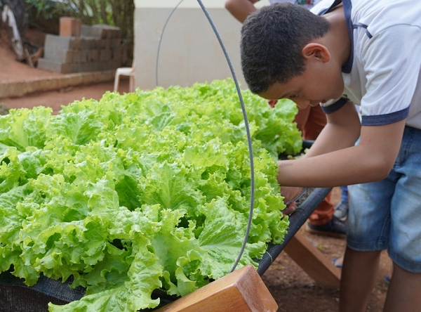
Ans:
[[[420,154],[421,130],[407,126],[389,176],[375,183],[348,187],[347,246],[361,252],[387,249],[394,262],[386,311],[420,311],[421,307]],[[340,306],[344,309],[349,300],[356,301],[354,306],[363,306],[366,302],[361,293],[361,297],[349,294],[354,289],[354,277],[349,274],[358,265],[364,272],[373,265],[370,259],[365,261],[361,262],[353,253],[345,254],[340,290]],[[343,275],[344,271],[348,273]]]

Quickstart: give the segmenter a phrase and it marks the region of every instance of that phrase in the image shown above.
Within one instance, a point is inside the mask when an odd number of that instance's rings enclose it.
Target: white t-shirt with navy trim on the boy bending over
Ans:
[[[342,67],[344,93],[361,105],[361,123],[407,118],[408,126],[421,129],[421,6],[413,0],[342,2],[353,37],[352,55]],[[312,12],[323,13],[331,4],[323,0]]]

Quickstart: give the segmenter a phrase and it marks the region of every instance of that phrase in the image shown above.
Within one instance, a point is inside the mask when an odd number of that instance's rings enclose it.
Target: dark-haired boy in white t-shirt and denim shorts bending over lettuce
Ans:
[[[325,0],[312,12],[274,4],[241,30],[250,91],[327,114],[307,155],[279,162],[278,181],[349,186],[340,311],[365,311],[383,249],[394,263],[385,311],[420,311],[420,13],[413,0]]]

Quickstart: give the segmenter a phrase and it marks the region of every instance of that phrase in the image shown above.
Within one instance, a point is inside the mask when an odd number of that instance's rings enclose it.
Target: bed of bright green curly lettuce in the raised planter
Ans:
[[[255,210],[239,267],[257,266],[288,228],[279,152],[301,149],[295,104],[243,93],[255,162]],[[232,80],[105,93],[52,115],[0,116],[0,272],[86,287],[50,311],[153,308],[153,290],[185,295],[229,273],[246,233],[250,160]]]

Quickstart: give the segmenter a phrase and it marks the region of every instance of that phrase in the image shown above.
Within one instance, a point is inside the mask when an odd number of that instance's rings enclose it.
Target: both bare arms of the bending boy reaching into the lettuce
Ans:
[[[328,115],[305,157],[279,162],[281,186],[334,187],[381,180],[389,173],[401,145],[405,119],[382,126],[362,126],[352,103]]]

